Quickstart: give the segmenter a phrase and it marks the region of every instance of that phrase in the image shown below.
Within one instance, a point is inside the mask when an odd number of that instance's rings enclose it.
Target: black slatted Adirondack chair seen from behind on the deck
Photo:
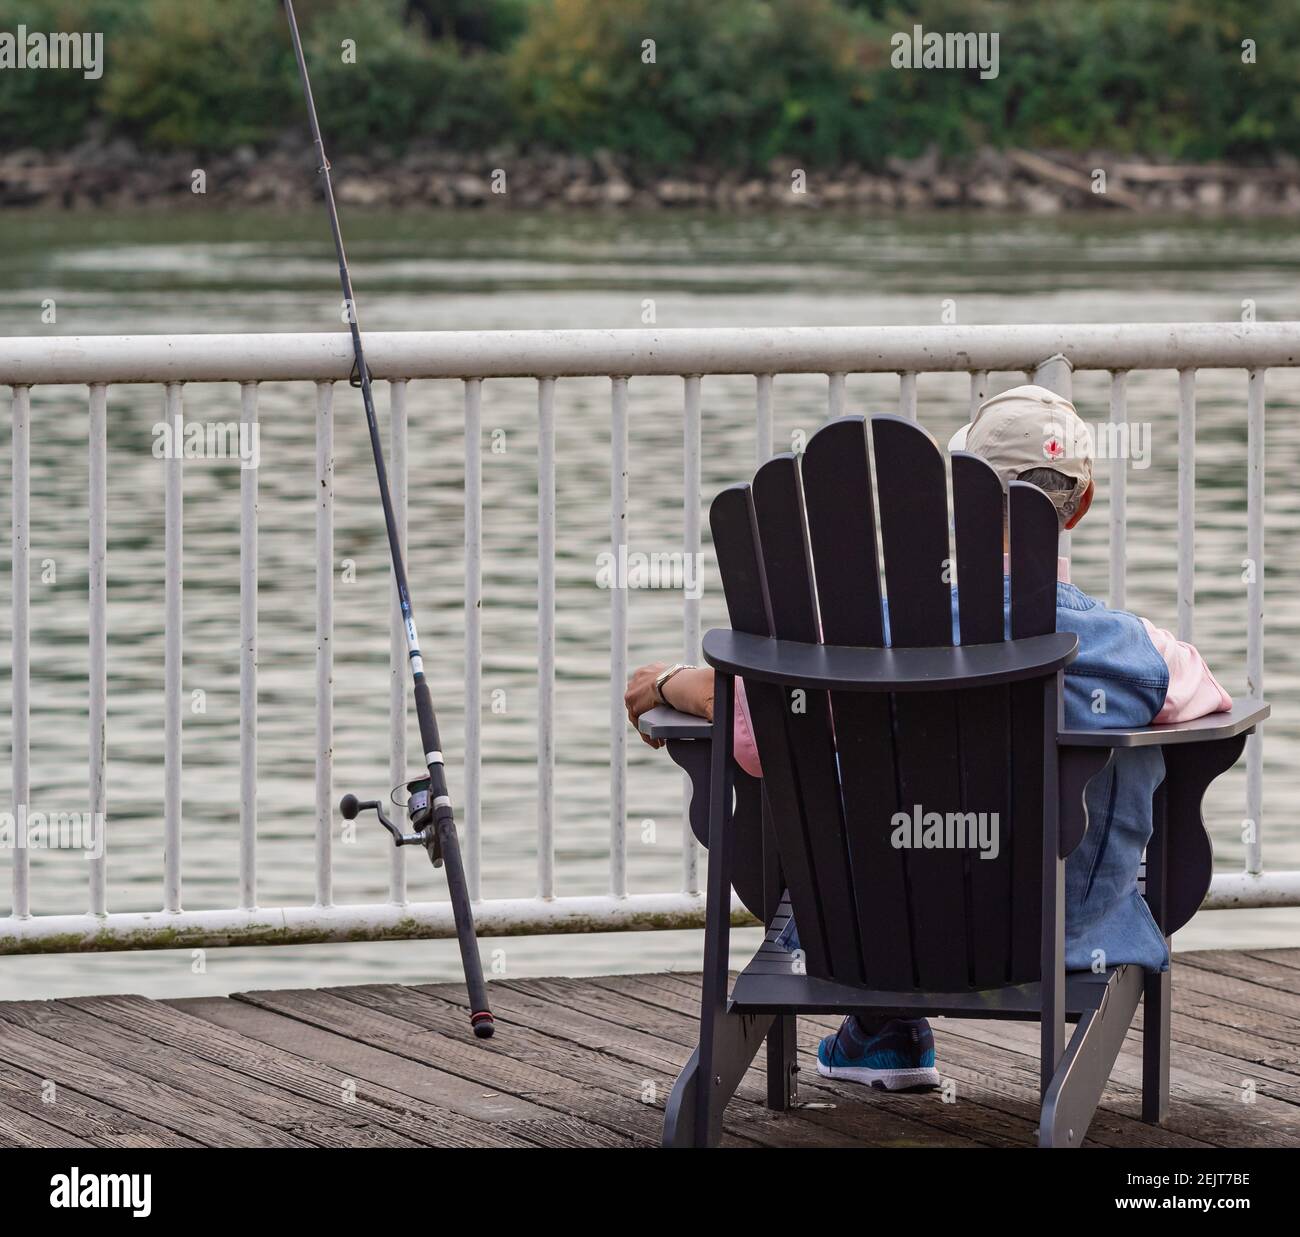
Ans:
[[[1065,971],[1065,858],[1087,829],[1088,781],[1113,751],[1162,746],[1145,898],[1173,934],[1209,887],[1205,787],[1268,706],[1244,702],[1187,725],[1066,730],[1062,672],[1078,641],[1056,630],[1050,500],[1010,486],[1006,638],[996,473],[976,456],[952,457],[954,573],[935,440],[896,416],[871,417],[870,435],[875,485],[867,424],[842,417],[802,460],[776,456],[753,485],[718,495],[710,524],[732,626],[703,641],[716,670],[714,721],[659,708],[641,722],[690,774],[690,824],[708,847],[699,1046],[673,1086],[663,1141],[716,1143],[764,1041],[768,1104],[788,1108],[797,1015],[854,1010],[1039,1019],[1039,1143],[1078,1146],[1144,1001],[1141,1111],[1158,1123],[1169,1106],[1170,975]],[[736,677],[762,782],[733,763]],[[896,848],[890,819],[914,804],[996,812],[998,856]],[[733,887],[768,932],[728,994]],[[779,943],[790,913],[798,955]]]

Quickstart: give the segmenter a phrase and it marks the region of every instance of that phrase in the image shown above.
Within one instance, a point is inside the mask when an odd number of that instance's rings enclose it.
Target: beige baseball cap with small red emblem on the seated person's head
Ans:
[[[1046,387],[1011,387],[984,400],[970,425],[948,442],[992,465],[1004,486],[1031,468],[1050,468],[1074,481],[1048,492],[1067,520],[1092,482],[1092,430],[1063,395]]]

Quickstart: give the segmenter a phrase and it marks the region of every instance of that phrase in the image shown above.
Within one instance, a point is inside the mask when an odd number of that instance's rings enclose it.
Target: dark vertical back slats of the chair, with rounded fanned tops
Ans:
[[[832,421],[802,460],[776,456],[753,487],[714,502],[732,626],[803,642],[946,646],[956,585],[961,639],[1005,639],[997,476],[954,455],[954,556],[933,439],[901,417],[872,417],[868,451],[867,429],[862,417]],[[1014,483],[1011,638],[1056,629],[1056,537],[1050,500]],[[892,694],[749,683],[746,695],[810,975],[887,990],[1037,977],[1044,681]],[[936,819],[950,832],[949,821],[970,828],[980,813],[997,821],[996,858],[896,845],[918,841],[910,825],[900,832],[904,820],[924,834]]]

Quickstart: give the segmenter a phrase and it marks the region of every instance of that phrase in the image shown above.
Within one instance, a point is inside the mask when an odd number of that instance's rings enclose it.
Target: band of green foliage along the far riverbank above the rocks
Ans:
[[[647,170],[878,165],[931,147],[1300,155],[1300,0],[298,0],[330,147],[614,151]],[[105,73],[0,71],[0,143],[269,144],[300,121],[277,0],[0,0]],[[890,42],[998,35],[998,75]],[[344,40],[355,40],[355,62]],[[653,40],[653,56],[649,51]],[[1253,40],[1253,62],[1243,42]]]

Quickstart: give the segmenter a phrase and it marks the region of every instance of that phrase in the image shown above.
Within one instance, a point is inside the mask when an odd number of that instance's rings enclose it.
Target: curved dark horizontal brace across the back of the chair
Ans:
[[[833,691],[946,691],[1041,678],[1069,665],[1079,637],[1069,631],[994,644],[937,648],[850,648],[805,644],[715,628],[705,660],[755,682]]]

